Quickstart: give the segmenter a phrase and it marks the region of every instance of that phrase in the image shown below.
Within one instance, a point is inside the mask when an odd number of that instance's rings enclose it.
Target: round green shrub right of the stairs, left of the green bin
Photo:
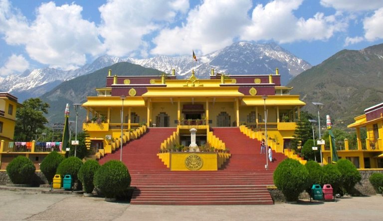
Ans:
[[[274,171],[274,184],[282,191],[287,201],[297,201],[299,194],[307,188],[309,173],[294,159],[283,160]]]

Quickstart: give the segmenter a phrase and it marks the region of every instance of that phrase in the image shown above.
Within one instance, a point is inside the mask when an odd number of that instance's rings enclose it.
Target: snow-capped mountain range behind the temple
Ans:
[[[192,60],[192,54],[178,57],[162,55],[147,59],[104,55],[97,58],[92,64],[84,65],[76,70],[62,71],[42,68],[18,75],[9,75],[5,78],[0,77],[0,91],[10,92],[22,102],[30,97],[41,96],[63,81],[122,61],[158,69],[165,73],[171,73],[172,69],[175,69],[179,78],[188,78],[194,69],[195,75],[201,79],[208,78],[212,68],[216,73],[230,75],[271,74],[275,73],[275,68],[279,68],[282,85],[286,85],[292,78],[311,68],[309,63],[275,43],[237,42],[207,55],[197,54],[197,60],[197,62]]]

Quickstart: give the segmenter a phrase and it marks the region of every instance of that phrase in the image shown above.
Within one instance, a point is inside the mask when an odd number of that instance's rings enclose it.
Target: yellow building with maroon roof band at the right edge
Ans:
[[[340,158],[351,160],[357,168],[383,168],[383,103],[365,110],[365,114],[354,117],[348,125],[357,130],[357,140],[345,140],[345,147],[338,150]],[[366,130],[366,139],[361,138],[361,128]],[[324,160],[329,161],[330,151],[324,150]]]

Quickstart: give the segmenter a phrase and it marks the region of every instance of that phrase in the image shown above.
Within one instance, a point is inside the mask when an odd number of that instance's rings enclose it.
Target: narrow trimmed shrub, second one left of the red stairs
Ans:
[[[87,160],[78,171],[77,176],[85,193],[92,193],[94,189],[93,177],[99,168],[100,164],[96,160]]]

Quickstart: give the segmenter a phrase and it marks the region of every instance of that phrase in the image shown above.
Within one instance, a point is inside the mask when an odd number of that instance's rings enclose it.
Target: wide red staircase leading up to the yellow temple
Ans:
[[[123,147],[123,162],[135,186],[131,204],[148,205],[272,205],[266,185],[273,185],[273,171],[283,154],[265,170],[266,154],[260,142],[251,140],[238,127],[214,128],[230,150],[231,158],[218,171],[170,171],[156,155],[160,144],[176,128],[149,128],[147,133]],[[120,159],[120,152],[100,159]]]

